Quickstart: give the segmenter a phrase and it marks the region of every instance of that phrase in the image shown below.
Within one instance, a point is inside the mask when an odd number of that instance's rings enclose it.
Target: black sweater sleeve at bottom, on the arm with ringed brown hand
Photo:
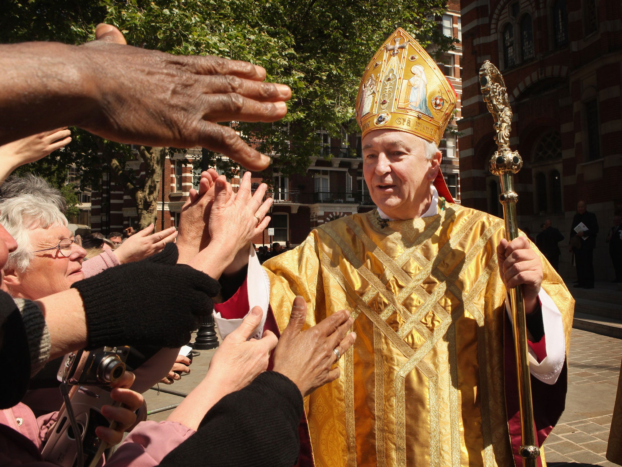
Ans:
[[[300,451],[302,413],[297,386],[280,373],[264,372],[218,401],[197,433],[160,467],[292,467]]]

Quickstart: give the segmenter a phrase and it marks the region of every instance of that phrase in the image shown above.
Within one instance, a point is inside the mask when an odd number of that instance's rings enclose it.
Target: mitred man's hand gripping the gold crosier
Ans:
[[[530,314],[536,308],[538,293],[542,285],[542,262],[531,249],[527,237],[514,238],[508,243],[501,239],[497,246],[499,274],[507,289],[522,285],[525,298],[525,312]]]

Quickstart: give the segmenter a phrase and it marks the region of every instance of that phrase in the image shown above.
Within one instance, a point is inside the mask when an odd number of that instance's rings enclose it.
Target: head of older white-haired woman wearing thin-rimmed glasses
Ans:
[[[0,223],[17,241],[2,271],[2,287],[12,296],[38,300],[84,278],[86,251],[55,204],[30,194],[6,199]]]

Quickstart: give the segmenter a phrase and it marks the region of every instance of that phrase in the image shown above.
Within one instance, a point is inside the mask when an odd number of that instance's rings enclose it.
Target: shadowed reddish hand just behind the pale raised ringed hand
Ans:
[[[210,243],[207,225],[210,219],[211,205],[214,202],[215,182],[218,173],[214,169],[203,171],[198,184],[198,191],[190,189],[190,196],[182,206],[179,216],[179,234],[177,250],[179,262],[187,263]],[[229,184],[228,189],[231,189]]]

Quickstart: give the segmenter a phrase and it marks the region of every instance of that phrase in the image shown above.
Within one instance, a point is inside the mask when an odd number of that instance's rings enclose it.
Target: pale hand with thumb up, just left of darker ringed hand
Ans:
[[[229,394],[242,389],[266,371],[270,352],[278,342],[277,337],[271,331],[265,331],[259,340],[246,340],[261,323],[261,316],[261,308],[254,307],[238,329],[220,344],[211,357],[210,370],[205,375],[211,388]]]

